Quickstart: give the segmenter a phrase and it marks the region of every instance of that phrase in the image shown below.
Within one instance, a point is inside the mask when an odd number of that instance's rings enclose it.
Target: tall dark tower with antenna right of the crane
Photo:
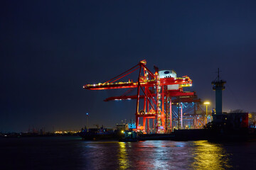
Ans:
[[[215,113],[213,113],[213,122],[215,123],[223,121],[222,91],[225,89],[225,83],[225,80],[220,80],[220,70],[218,69],[218,77],[212,81],[213,90],[215,91]]]

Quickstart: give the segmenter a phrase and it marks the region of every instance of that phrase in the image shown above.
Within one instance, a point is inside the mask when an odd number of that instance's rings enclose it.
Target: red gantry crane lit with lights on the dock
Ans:
[[[139,71],[136,82],[120,81],[129,74]],[[195,96],[194,92],[183,91],[183,87],[192,86],[192,80],[188,76],[176,77],[174,70],[161,70],[155,67],[156,72],[152,73],[146,67],[146,60],[142,60],[126,72],[119,74],[117,77],[99,84],[86,84],[84,89],[89,90],[105,90],[105,89],[128,89],[122,96],[114,96],[105,99],[105,101],[120,101],[136,99],[137,106],[135,111],[136,130],[149,132],[149,120],[151,120],[151,130],[156,133],[171,132],[173,127],[171,114],[171,98],[182,96]],[[132,90],[137,90],[137,95],[129,95]],[[142,99],[143,104],[139,103]],[[192,98],[188,102],[193,102]],[[177,102],[177,101],[176,101]],[[143,124],[139,125],[139,119],[143,120]],[[178,119],[178,128],[182,127],[181,120]]]

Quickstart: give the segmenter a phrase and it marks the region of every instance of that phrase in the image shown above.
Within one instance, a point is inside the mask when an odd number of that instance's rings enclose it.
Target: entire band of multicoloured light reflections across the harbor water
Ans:
[[[207,141],[85,142],[82,169],[232,169],[223,145]]]

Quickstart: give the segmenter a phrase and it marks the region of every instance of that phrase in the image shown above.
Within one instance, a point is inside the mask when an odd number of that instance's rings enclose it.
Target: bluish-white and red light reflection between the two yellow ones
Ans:
[[[188,169],[192,156],[187,144],[162,140],[137,143],[138,161],[134,169]]]

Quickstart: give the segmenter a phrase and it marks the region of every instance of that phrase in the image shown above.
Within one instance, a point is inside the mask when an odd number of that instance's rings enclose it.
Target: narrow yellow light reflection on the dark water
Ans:
[[[119,169],[129,168],[129,159],[127,159],[127,149],[125,142],[119,142],[119,152],[117,154]]]

